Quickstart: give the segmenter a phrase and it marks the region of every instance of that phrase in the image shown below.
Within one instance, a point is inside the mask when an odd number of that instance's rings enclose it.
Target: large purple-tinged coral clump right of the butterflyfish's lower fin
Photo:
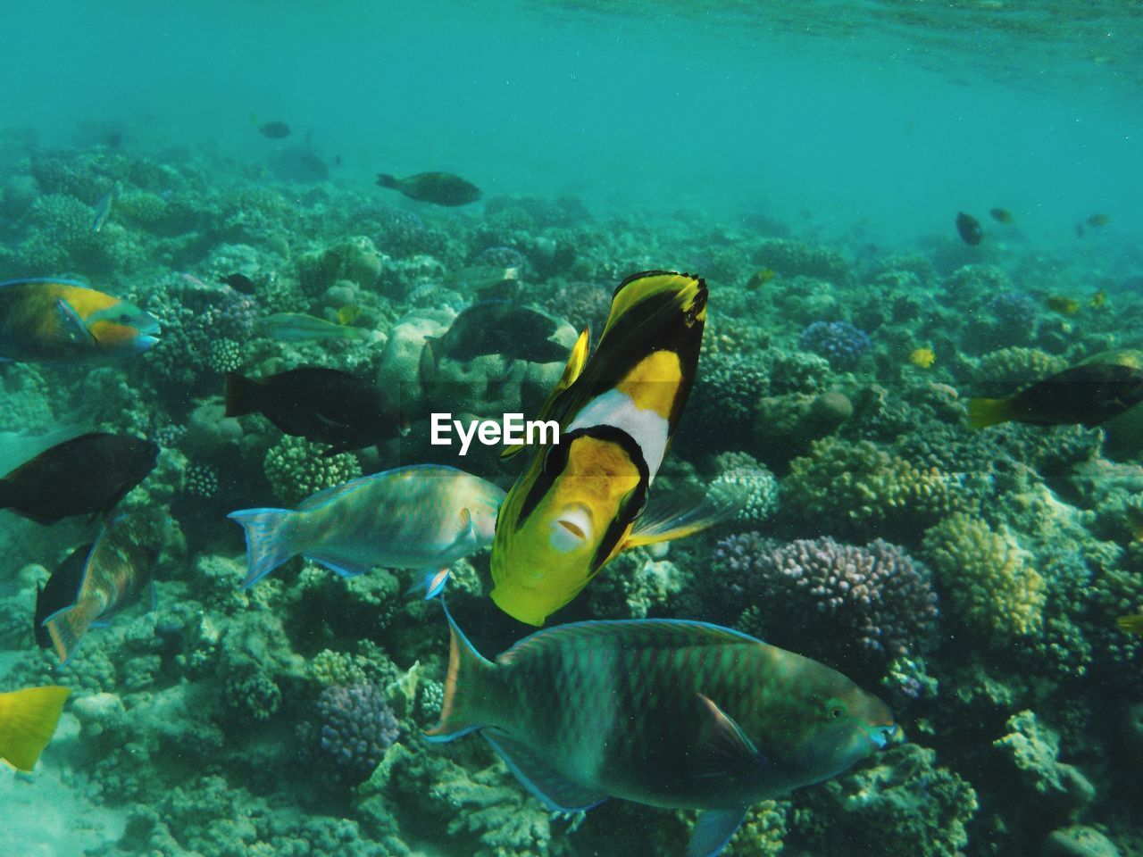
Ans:
[[[917,654],[935,627],[928,569],[881,539],[866,547],[829,537],[778,545],[744,532],[720,542],[716,559],[756,604],[743,616],[760,626],[751,630],[846,670],[882,671]]]

